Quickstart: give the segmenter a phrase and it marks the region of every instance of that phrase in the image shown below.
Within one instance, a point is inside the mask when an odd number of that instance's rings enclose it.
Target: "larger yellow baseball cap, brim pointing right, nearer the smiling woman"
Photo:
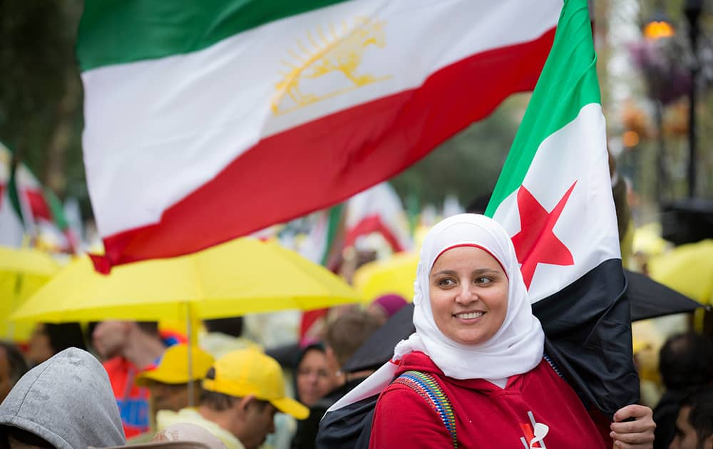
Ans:
[[[282,368],[274,358],[254,348],[239,349],[218,358],[213,365],[215,376],[204,378],[204,390],[237,398],[253,395],[269,401],[277,410],[297,419],[309,416],[309,408],[284,396]]]

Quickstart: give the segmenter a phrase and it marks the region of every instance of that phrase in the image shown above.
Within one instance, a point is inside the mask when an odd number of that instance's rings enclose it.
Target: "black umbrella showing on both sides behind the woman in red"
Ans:
[[[627,278],[627,296],[631,307],[632,321],[654,318],[683,312],[691,312],[702,307],[697,301],[659,284],[644,274],[624,270]],[[383,365],[394,355],[394,346],[407,339],[416,329],[412,318],[414,304],[401,308],[384,326],[381,326],[342,367],[342,371],[353,373],[374,369]]]

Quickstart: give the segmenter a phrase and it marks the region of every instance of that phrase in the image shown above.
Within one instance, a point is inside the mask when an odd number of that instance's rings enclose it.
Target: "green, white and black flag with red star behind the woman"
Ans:
[[[545,351],[611,417],[639,381],[596,61],[587,1],[565,0],[486,215],[513,239]]]

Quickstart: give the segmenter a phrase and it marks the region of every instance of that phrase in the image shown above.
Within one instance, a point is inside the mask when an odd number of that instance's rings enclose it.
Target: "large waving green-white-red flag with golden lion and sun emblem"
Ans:
[[[561,0],[87,0],[84,161],[113,264],[396,175],[530,91]]]

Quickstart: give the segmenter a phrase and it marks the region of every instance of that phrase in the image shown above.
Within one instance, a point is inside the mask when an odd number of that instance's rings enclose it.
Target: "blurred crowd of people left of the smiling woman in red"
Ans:
[[[24,351],[0,346],[0,444],[156,445],[168,433],[185,444],[197,426],[215,438],[209,447],[314,447],[319,417],[368,374],[340,366],[405,304],[389,295],[339,312],[322,339],[289,346],[279,363],[242,336],[242,318],[206,320],[198,345],[156,322],[39,324]]]

